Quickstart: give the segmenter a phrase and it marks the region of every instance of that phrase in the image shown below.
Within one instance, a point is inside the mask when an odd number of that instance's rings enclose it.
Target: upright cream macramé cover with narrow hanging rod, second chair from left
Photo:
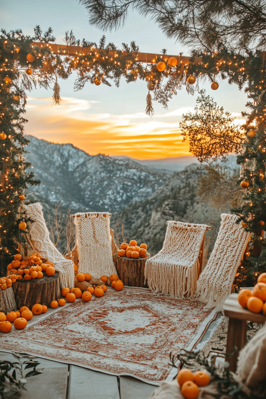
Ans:
[[[93,277],[116,273],[112,258],[110,213],[76,213],[77,245],[79,248],[79,272]]]

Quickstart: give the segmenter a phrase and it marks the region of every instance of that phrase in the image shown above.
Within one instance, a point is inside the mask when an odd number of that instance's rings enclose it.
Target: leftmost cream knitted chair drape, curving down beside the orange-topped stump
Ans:
[[[30,233],[27,239],[34,252],[39,253],[48,261],[53,262],[54,268],[59,272],[59,281],[61,288],[74,286],[74,263],[65,259],[63,255],[55,248],[49,237],[49,231],[43,218],[42,206],[40,203],[24,205],[27,215],[35,221],[30,225]]]

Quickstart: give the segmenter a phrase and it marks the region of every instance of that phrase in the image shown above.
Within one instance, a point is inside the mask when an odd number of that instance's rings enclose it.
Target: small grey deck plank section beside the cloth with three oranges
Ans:
[[[148,399],[156,389],[155,385],[146,384],[133,377],[119,378],[121,399]]]

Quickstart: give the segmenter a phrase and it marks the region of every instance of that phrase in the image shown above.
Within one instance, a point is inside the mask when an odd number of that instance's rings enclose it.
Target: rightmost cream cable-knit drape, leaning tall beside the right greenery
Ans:
[[[238,266],[243,258],[250,233],[236,224],[237,216],[221,214],[221,227],[207,265],[197,282],[196,295],[207,303],[207,308],[223,310],[223,304],[231,294]]]

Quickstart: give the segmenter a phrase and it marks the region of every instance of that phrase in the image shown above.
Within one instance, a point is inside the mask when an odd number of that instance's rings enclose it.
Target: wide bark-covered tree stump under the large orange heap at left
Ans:
[[[28,306],[30,310],[35,303],[50,306],[52,300],[61,297],[59,273],[53,276],[44,275],[41,279],[17,280],[12,284],[18,309]]]

